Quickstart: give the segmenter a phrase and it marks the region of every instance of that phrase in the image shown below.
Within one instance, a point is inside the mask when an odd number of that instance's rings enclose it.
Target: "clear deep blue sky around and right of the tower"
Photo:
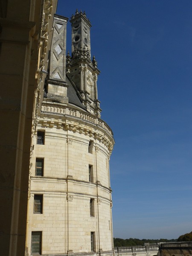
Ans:
[[[191,0],[58,0],[86,12],[113,130],[113,236],[177,239],[192,231]],[[71,52],[71,27],[67,26]]]

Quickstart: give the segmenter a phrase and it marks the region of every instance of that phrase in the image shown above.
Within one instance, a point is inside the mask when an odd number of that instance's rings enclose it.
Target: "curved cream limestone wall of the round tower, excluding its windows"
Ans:
[[[44,145],[37,144],[37,132],[32,138],[29,255],[31,234],[35,231],[42,232],[42,254],[99,251],[113,254],[109,180],[109,157],[114,144],[112,132],[101,119],[90,122],[73,116],[73,111],[71,115],[55,115],[54,109],[52,113],[50,109],[42,112],[36,130],[44,131]],[[86,112],[84,115],[88,115],[89,120],[92,118]],[[43,176],[35,174],[37,158],[44,160]],[[34,195],[43,195],[42,213],[34,213]],[[94,233],[92,252],[91,233]]]

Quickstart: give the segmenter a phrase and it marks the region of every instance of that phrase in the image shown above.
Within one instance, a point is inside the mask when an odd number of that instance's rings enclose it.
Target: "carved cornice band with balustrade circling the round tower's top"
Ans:
[[[83,110],[43,102],[38,122],[41,127],[57,127],[93,137],[108,148],[110,155],[112,153],[114,139],[111,128],[102,119]]]

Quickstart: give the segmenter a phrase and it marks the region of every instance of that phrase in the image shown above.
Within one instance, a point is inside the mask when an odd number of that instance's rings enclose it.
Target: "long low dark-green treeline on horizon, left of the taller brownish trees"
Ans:
[[[154,243],[169,243],[169,242],[177,242],[177,239],[137,239],[137,238],[113,238],[114,247],[120,246],[136,246],[136,245],[144,245],[145,243],[154,244]]]

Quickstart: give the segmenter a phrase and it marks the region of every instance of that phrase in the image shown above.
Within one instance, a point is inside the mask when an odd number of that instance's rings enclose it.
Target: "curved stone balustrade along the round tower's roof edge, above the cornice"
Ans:
[[[67,108],[64,106],[53,105],[52,103],[42,103],[41,105],[41,112],[48,112],[48,113],[57,113],[61,115],[68,115],[68,116],[75,116],[78,118],[81,118],[83,120],[86,120],[88,122],[92,122],[93,124],[99,125],[100,127],[104,128],[108,133],[113,136],[113,132],[111,131],[111,128],[104,122],[102,119],[99,119],[96,116],[93,116],[92,114],[85,113],[83,111],[78,111],[73,108]]]

